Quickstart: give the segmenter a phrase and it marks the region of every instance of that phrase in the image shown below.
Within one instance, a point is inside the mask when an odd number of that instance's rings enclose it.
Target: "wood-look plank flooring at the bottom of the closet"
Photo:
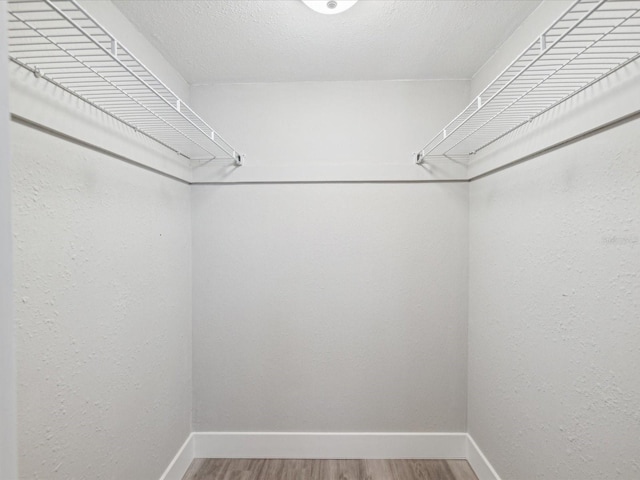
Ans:
[[[196,458],[182,480],[478,480],[466,460]]]

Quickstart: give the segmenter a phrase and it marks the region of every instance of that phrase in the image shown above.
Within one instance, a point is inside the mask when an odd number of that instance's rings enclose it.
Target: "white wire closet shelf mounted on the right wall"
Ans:
[[[416,155],[467,156],[640,57],[639,0],[577,0]]]

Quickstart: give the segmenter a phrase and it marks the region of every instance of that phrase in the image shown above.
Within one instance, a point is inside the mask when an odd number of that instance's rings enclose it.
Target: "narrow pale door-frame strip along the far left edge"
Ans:
[[[0,0],[0,25],[6,22],[6,7]],[[2,28],[0,58],[7,58]],[[9,82],[7,66],[0,63],[0,478],[16,477],[16,389],[13,326],[11,250],[11,177],[9,175]]]

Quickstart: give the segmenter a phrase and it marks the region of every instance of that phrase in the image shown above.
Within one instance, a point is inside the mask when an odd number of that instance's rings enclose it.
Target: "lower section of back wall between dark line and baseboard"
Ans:
[[[466,184],[192,191],[194,430],[465,430]]]

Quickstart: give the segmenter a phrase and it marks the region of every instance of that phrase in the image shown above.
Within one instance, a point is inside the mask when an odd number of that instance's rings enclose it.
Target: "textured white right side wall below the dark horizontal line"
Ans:
[[[505,480],[640,478],[639,129],[471,185],[469,432]]]

